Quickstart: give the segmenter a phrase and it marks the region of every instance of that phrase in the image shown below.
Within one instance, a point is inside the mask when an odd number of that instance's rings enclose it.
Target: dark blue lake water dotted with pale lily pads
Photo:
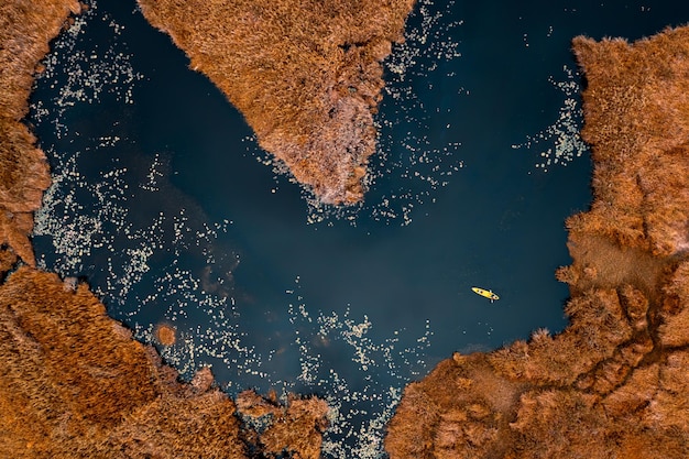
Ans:
[[[419,1],[386,61],[365,201],[318,206],[133,1],[56,42],[29,121],[54,184],[40,263],[80,276],[183,378],[318,394],[326,457],[382,455],[411,381],[453,351],[566,327],[555,270],[591,200],[573,36],[636,40],[689,3]],[[471,292],[492,288],[490,303]]]

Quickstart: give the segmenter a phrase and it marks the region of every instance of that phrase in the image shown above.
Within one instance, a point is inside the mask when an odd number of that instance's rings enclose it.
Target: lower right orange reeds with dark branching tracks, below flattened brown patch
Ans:
[[[558,336],[441,362],[405,390],[391,459],[626,458],[631,445],[644,445],[639,458],[688,457],[689,351],[659,335],[661,320],[638,320],[647,305],[631,286],[592,289]]]

